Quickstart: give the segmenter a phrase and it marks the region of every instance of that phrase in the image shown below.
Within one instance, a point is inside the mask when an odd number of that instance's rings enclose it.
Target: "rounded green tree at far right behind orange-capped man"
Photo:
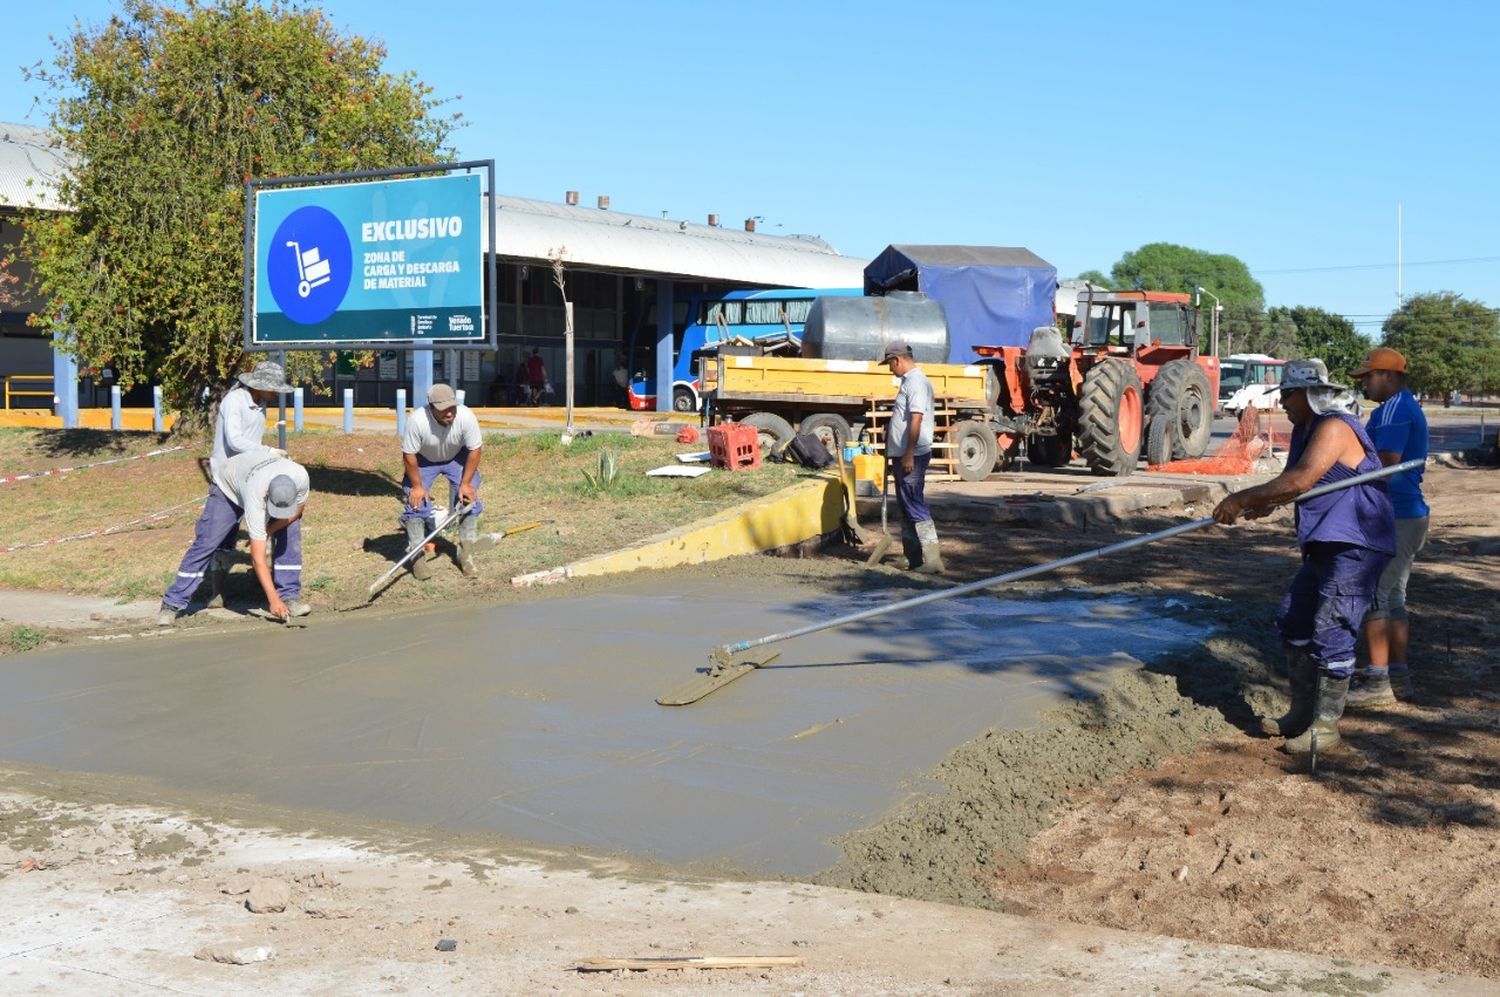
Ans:
[[[1407,358],[1412,390],[1446,394],[1500,385],[1500,313],[1452,291],[1418,294],[1382,327],[1383,345]]]

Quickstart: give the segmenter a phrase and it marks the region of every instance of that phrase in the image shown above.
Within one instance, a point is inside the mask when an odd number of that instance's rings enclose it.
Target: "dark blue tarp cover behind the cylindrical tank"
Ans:
[[[1024,346],[1053,324],[1058,268],[1029,249],[886,246],[864,268],[864,292],[922,291],[948,313],[948,363],[975,346]]]

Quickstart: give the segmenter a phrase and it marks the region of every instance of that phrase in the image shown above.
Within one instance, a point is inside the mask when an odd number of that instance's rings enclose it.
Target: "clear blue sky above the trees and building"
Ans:
[[[1500,4],[330,0],[459,97],[504,193],[890,243],[1026,246],[1059,276],[1173,241],[1269,304],[1378,331],[1402,289],[1500,306]],[[16,69],[116,3],[6,12]],[[1462,262],[1446,262],[1462,261]]]

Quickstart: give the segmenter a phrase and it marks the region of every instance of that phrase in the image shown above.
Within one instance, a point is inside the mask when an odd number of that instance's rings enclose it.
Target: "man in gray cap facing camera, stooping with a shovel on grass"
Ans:
[[[406,508],[400,522],[406,528],[408,549],[436,529],[428,493],[440,477],[447,478],[453,507],[470,507],[459,520],[459,568],[470,579],[478,577],[474,553],[478,544],[478,514],[484,511],[484,504],[478,499],[478,460],[483,447],[478,418],[466,405],[459,405],[458,394],[446,384],[434,384],[428,390],[428,403],[411,414],[406,435],[400,439],[400,460],[406,471],[402,484]],[[411,559],[411,574],[417,579],[432,577],[426,553]]]

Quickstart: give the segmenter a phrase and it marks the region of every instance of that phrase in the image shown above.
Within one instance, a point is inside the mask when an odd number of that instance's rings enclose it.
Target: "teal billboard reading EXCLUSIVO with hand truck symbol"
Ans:
[[[477,174],[255,192],[255,345],[484,340]]]

